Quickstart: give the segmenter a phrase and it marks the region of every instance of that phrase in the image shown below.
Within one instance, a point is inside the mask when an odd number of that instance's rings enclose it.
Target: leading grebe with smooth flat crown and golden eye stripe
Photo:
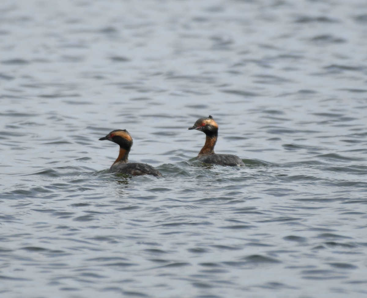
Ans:
[[[128,155],[132,146],[132,137],[126,129],[116,129],[107,136],[99,139],[100,141],[109,140],[120,146],[119,157],[112,164],[109,173],[123,173],[133,176],[137,175],[153,175],[162,177],[162,174],[148,164],[139,162],[128,162]]]

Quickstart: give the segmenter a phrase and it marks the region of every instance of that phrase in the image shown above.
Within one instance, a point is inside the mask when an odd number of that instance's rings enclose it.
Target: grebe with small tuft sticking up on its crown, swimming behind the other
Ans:
[[[218,164],[223,166],[244,166],[245,164],[236,155],[233,154],[216,154],[214,146],[218,139],[218,124],[213,117],[198,119],[194,126],[188,129],[196,129],[206,134],[204,147],[200,150],[196,159],[206,164]]]

